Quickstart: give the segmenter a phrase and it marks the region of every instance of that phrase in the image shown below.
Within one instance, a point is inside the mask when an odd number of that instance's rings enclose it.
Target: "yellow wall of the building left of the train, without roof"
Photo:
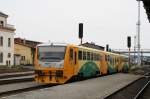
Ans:
[[[14,44],[14,65],[32,65],[32,48],[24,44]]]

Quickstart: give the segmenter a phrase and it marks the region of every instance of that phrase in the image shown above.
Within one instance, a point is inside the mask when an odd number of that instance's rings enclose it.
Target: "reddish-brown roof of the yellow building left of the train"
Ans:
[[[15,44],[24,45],[24,46],[28,46],[28,47],[31,47],[31,48],[35,48],[37,44],[42,43],[42,42],[26,40],[26,39],[22,39],[22,38],[15,38],[14,42],[15,42]]]

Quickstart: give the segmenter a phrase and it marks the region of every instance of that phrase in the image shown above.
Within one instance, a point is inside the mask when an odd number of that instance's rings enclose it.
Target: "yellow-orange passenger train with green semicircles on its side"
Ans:
[[[35,81],[63,84],[72,78],[127,72],[128,57],[73,44],[39,44],[35,52]]]

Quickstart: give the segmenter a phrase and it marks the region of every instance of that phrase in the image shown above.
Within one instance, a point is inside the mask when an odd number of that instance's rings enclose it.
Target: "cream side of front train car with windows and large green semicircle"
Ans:
[[[99,52],[79,48],[78,58],[79,67],[77,69],[77,75],[79,77],[100,75],[101,63],[99,60]]]

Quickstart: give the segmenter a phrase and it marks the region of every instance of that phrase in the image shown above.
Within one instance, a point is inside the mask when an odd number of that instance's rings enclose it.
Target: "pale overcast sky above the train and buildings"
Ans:
[[[15,25],[15,37],[29,40],[79,44],[80,22],[83,42],[109,44],[113,49],[127,48],[127,36],[134,41],[136,35],[136,0],[0,0],[0,11]],[[150,49],[150,23],[143,3],[141,23],[141,47]]]

